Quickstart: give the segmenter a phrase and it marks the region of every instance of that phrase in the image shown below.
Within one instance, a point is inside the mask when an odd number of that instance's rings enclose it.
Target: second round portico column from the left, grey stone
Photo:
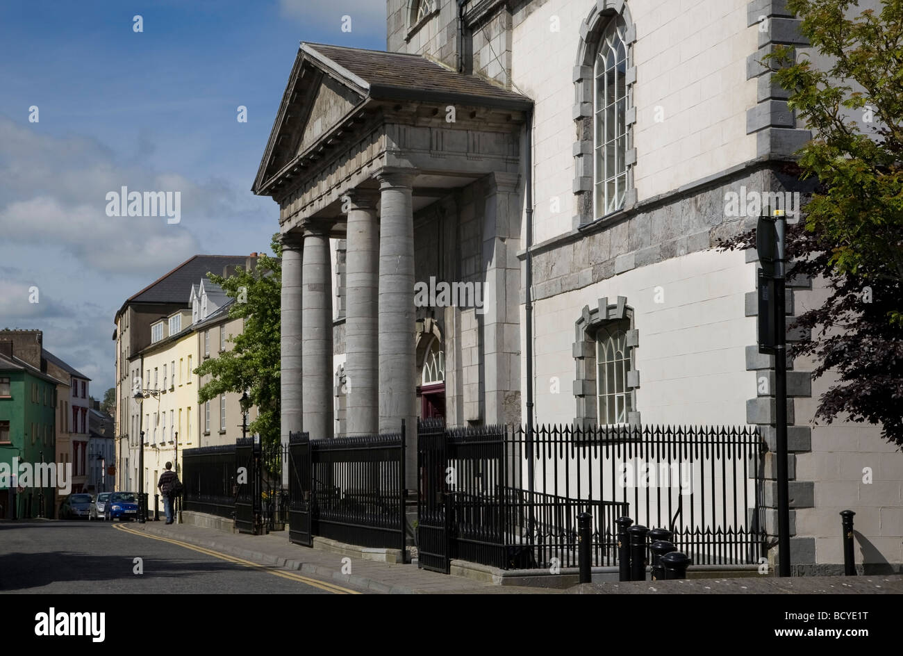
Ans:
[[[332,436],[332,263],[324,230],[304,231],[303,421],[311,439]]]

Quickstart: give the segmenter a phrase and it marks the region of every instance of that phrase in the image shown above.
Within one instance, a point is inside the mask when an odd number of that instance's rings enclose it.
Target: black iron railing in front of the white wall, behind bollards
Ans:
[[[673,529],[695,564],[757,563],[761,554],[763,442],[754,427],[540,426],[528,436],[519,426],[442,430],[427,421],[418,440],[424,567],[447,571],[451,558],[576,567],[583,511],[594,566],[616,564],[624,515]]]

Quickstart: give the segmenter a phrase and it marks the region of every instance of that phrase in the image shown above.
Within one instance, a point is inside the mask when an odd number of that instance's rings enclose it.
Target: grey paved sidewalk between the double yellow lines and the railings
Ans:
[[[389,565],[387,563],[351,558],[351,573],[342,574],[342,558],[350,558],[321,549],[299,547],[288,541],[287,531],[269,535],[227,533],[216,529],[204,529],[189,524],[170,524],[148,521],[146,524],[130,523],[129,529],[151,535],[182,540],[197,547],[205,547],[222,553],[245,558],[261,565],[275,565],[302,574],[320,576],[337,583],[358,586],[383,594],[543,594],[561,593],[521,586],[492,586],[471,581],[461,576],[450,576],[419,569],[414,565]]]

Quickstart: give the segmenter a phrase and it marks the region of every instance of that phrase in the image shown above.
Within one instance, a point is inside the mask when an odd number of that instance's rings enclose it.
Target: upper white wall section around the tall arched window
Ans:
[[[746,79],[746,58],[758,46],[757,26],[746,24],[748,4],[628,0],[637,26],[638,201],[756,157],[756,136],[746,134],[746,111],[756,104],[756,80]],[[532,13],[516,14],[513,21],[515,90],[535,101],[535,243],[573,225],[573,67],[581,23],[594,5],[549,0],[527,5]],[[553,25],[560,31],[553,32]]]

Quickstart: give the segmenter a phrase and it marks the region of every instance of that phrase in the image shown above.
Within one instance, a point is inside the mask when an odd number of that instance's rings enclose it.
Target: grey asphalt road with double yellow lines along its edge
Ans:
[[[121,525],[127,529],[129,522]],[[117,529],[119,522],[0,522],[0,592],[293,594],[365,592],[209,549]],[[143,574],[135,573],[141,558]]]

